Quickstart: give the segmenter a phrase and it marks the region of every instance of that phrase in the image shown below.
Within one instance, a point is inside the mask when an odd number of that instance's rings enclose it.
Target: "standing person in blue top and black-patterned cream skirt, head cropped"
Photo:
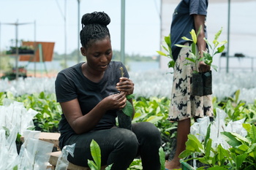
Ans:
[[[191,117],[213,117],[211,96],[192,96],[191,86],[192,70],[208,72],[210,66],[200,61],[198,66],[187,64],[190,57],[189,48],[180,48],[178,45],[189,45],[189,41],[181,39],[191,37],[189,31],[194,29],[197,36],[197,50],[200,57],[206,51],[206,15],[208,0],[181,0],[173,13],[170,28],[173,59],[176,61],[173,74],[173,89],[168,120],[178,121],[176,152],[171,161],[165,163],[166,169],[180,169],[178,155],[186,149],[187,135],[190,133]],[[200,27],[202,27],[200,29]]]

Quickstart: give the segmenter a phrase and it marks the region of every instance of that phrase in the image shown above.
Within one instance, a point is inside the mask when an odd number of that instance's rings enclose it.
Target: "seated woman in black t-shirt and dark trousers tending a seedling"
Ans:
[[[105,12],[83,15],[80,51],[86,62],[62,70],[56,78],[56,97],[63,112],[59,146],[75,143],[74,158],[69,155],[68,160],[79,166],[88,166],[87,160],[92,160],[94,139],[101,149],[102,166],[113,163],[111,169],[125,170],[140,155],[144,170],[160,169],[161,139],[153,124],[134,123],[132,131],[116,126],[116,112],[126,106],[134,84],[125,66],[111,61],[109,23]]]

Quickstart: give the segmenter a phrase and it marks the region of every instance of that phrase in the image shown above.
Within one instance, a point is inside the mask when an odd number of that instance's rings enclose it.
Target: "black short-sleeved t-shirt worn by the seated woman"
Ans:
[[[59,72],[56,77],[55,88],[58,102],[71,101],[78,98],[80,109],[83,115],[86,115],[103,98],[109,96],[110,93],[117,92],[116,83],[119,82],[121,77],[121,66],[124,68],[124,77],[129,77],[129,74],[121,62],[111,61],[102,80],[91,82],[83,75],[82,64],[78,63]],[[116,110],[108,110],[93,130],[112,128],[113,125],[116,125]],[[64,114],[61,115],[59,131],[61,133],[59,139],[60,147],[63,140],[75,134]]]

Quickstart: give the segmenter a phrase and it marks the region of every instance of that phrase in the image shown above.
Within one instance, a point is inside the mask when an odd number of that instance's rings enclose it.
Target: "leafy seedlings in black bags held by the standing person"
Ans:
[[[201,27],[199,28],[198,33],[200,32]],[[225,44],[227,43],[227,41],[222,41],[219,42],[219,35],[222,33],[222,28],[217,32],[217,34],[215,34],[214,36],[214,40],[213,40],[213,46],[208,42],[208,40],[206,38],[204,38],[204,40],[206,41],[208,47],[212,50],[212,53],[210,54],[208,52],[208,50],[203,51],[203,57],[200,58],[200,52],[197,51],[197,36],[198,34],[195,34],[195,30],[192,29],[192,31],[190,31],[190,34],[192,36],[192,39],[189,39],[185,36],[182,37],[182,39],[192,42],[191,45],[191,52],[190,58],[186,58],[188,61],[190,61],[190,63],[187,64],[192,64],[194,63],[195,66],[198,65],[198,63],[200,61],[204,61],[208,66],[211,66],[214,70],[217,71],[217,66],[214,66],[212,64],[213,62],[213,58],[214,55],[216,55],[217,53],[222,53],[223,50],[225,50]],[[219,47],[220,45],[220,47]],[[178,47],[190,47],[187,45],[176,45]],[[212,75],[211,75],[211,70],[208,72],[197,72],[197,70],[193,70],[192,72],[192,91],[191,94],[192,96],[206,96],[206,95],[210,95],[212,94]]]

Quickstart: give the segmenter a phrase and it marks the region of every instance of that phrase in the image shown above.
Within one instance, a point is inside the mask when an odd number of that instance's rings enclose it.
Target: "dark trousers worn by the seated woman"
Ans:
[[[91,140],[99,144],[102,166],[113,163],[111,170],[126,170],[130,163],[140,155],[143,170],[159,170],[159,130],[152,123],[133,123],[132,131],[124,128],[110,128],[71,136],[64,145],[75,143],[74,158],[68,160],[78,166],[88,166],[91,157]]]

